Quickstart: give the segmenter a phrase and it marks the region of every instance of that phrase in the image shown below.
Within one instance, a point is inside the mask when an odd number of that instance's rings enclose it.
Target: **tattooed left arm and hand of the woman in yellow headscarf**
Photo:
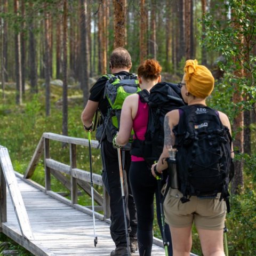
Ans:
[[[167,166],[166,158],[169,157],[169,149],[172,148],[175,142],[175,137],[172,132],[172,129],[179,122],[179,111],[173,110],[166,114],[164,118],[164,148],[161,156],[158,159],[157,164],[153,164],[151,167],[151,173],[156,177],[154,166],[159,173],[162,173]]]

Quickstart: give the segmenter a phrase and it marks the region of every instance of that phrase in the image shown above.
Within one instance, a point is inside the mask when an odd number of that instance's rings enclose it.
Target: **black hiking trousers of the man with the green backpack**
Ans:
[[[101,143],[101,155],[103,162],[102,179],[110,196],[110,234],[116,246],[126,246],[123,201],[117,149],[113,147],[112,143],[104,140]],[[129,151],[125,151],[124,155],[125,164],[123,169],[123,179],[127,227],[129,231],[129,237],[137,239],[137,213],[131,193],[130,182],[127,180],[129,177],[128,173],[131,164],[131,155]]]

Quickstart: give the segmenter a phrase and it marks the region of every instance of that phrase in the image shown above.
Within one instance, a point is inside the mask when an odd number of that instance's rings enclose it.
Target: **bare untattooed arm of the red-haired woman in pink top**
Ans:
[[[117,145],[124,146],[129,142],[133,119],[135,118],[134,114],[138,110],[138,94],[133,94],[128,96],[123,103],[121,118],[120,118],[120,127],[119,132],[116,137]]]

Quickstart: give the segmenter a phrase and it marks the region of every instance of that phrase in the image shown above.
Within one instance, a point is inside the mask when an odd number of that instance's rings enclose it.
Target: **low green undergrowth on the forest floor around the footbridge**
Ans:
[[[178,82],[178,81],[176,81]],[[39,82],[40,84],[40,82]],[[43,83],[41,83],[43,84]],[[77,138],[86,138],[81,123],[81,112],[83,110],[82,92],[74,86],[69,90],[68,106],[68,135]],[[215,89],[216,90],[216,89]],[[5,100],[0,105],[0,145],[7,147],[15,171],[25,173],[31,157],[34,154],[36,146],[44,132],[53,132],[61,134],[62,130],[62,108],[61,108],[61,87],[51,85],[51,115],[45,116],[45,95],[44,87],[39,87],[38,94],[25,93],[25,99],[21,106],[15,105],[15,85],[6,84]],[[3,92],[0,90],[0,97],[3,98]],[[214,97],[214,95],[213,95]],[[216,95],[218,97],[218,94]],[[219,99],[220,100],[220,99]],[[212,99],[212,105],[215,106],[218,99]],[[211,101],[209,102],[211,106]],[[223,102],[222,102],[223,103]],[[218,105],[218,104],[217,104]],[[224,110],[223,110],[224,111]],[[256,150],[256,126],[251,126],[252,152]],[[94,134],[92,135],[94,139]],[[62,163],[69,164],[69,149],[62,147],[60,142],[51,142],[51,157]],[[101,174],[100,151],[93,149],[93,172]],[[244,188],[240,195],[231,195],[231,212],[227,215],[226,226],[228,228],[227,239],[229,255],[231,256],[254,256],[256,255],[256,155],[237,156],[237,161],[244,161]],[[90,170],[89,149],[78,146],[77,148],[77,167]],[[44,163],[41,157],[32,179],[44,186]],[[101,188],[95,188],[102,193]],[[64,192],[69,197],[69,191],[63,187],[60,182],[52,178],[52,190],[55,192]],[[91,198],[81,191],[78,196],[78,203],[82,205],[91,205]],[[154,235],[161,238],[157,221],[154,222]],[[5,242],[3,244],[3,242]],[[19,255],[31,255],[26,250],[15,245],[9,238],[3,234],[0,236],[0,255],[2,251],[19,250]],[[192,252],[202,255],[198,235],[193,228],[193,249]]]

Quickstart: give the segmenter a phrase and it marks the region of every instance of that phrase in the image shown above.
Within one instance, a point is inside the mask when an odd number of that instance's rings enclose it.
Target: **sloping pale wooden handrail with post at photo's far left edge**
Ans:
[[[33,240],[33,232],[30,227],[28,214],[20,193],[18,189],[18,182],[15,177],[12,162],[8,153],[7,148],[0,146],[0,172],[1,172],[1,227],[2,222],[7,221],[7,211],[6,211],[6,185],[8,187],[12,205],[14,207],[15,214],[18,219],[21,234],[28,240]]]

